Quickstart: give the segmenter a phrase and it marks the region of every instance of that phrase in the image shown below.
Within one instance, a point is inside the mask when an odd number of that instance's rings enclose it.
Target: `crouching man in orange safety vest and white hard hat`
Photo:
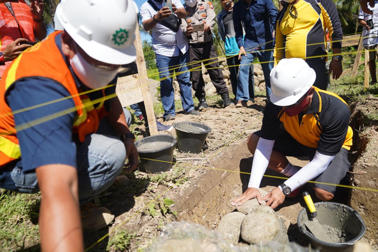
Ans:
[[[24,51],[0,81],[0,187],[41,191],[42,250],[80,251],[82,227],[114,219],[86,203],[117,184],[125,158],[125,172],[138,163],[115,94],[121,65],[136,57],[138,9],[132,0],[62,0],[56,15],[64,31]]]

